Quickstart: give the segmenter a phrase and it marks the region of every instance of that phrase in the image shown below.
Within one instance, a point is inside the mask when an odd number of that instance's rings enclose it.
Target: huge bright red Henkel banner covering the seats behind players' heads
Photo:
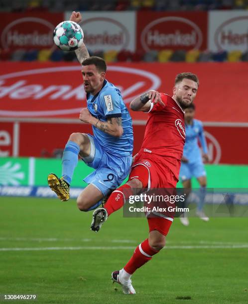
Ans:
[[[78,118],[86,106],[81,66],[61,63],[0,63],[0,118]],[[150,89],[171,94],[175,76],[198,75],[197,118],[203,122],[248,121],[248,63],[159,64],[108,66],[107,79],[121,89],[124,102]],[[146,114],[130,112],[134,120]]]

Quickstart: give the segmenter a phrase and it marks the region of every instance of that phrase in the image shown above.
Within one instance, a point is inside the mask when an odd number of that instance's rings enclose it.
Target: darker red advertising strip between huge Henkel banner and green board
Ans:
[[[133,154],[141,147],[144,128],[144,124],[133,125]],[[248,126],[204,129],[210,163],[248,164]],[[0,122],[0,156],[54,157],[74,132],[92,134],[92,128],[83,123]]]

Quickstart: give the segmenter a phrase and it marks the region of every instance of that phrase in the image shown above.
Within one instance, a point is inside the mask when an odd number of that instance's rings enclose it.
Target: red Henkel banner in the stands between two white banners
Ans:
[[[137,12],[137,49],[204,50],[207,48],[208,13]]]

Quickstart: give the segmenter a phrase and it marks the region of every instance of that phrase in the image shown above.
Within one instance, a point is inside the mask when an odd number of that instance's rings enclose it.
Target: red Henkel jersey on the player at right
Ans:
[[[178,178],[185,143],[184,112],[171,96],[160,95],[165,107],[151,103],[139,153],[148,153]]]

